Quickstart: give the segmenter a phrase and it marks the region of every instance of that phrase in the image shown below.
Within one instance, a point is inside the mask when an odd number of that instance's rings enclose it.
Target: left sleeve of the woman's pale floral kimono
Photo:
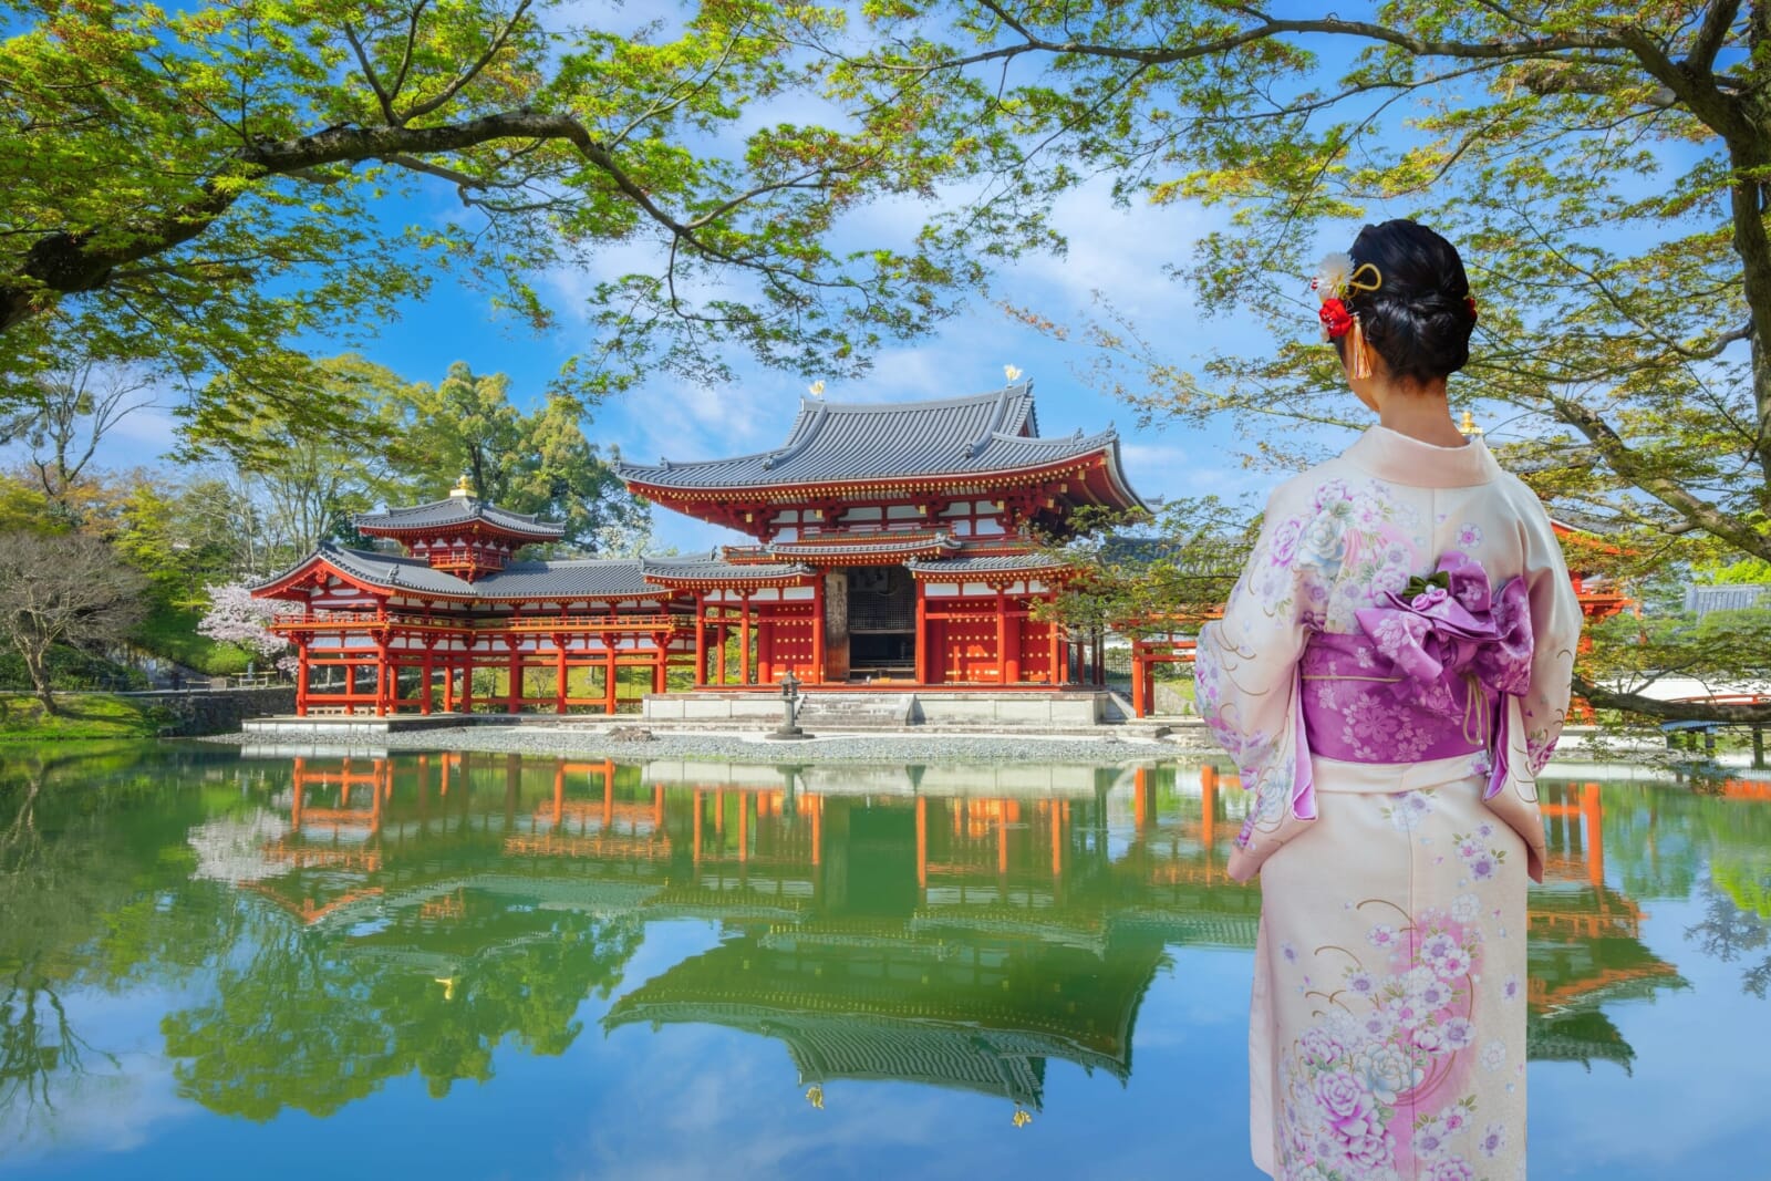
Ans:
[[[1263,832],[1275,839],[1288,820],[1316,814],[1298,717],[1298,659],[1325,597],[1303,556],[1312,515],[1307,483],[1295,480],[1273,492],[1224,618],[1199,632],[1199,714],[1241,768],[1241,786],[1254,791],[1254,807],[1236,838],[1245,852],[1254,852]]]

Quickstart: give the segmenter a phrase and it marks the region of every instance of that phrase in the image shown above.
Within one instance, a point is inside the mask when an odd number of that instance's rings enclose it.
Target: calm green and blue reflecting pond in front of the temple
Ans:
[[[1771,1177],[1771,799],[1546,783],[1532,1176]],[[1257,1177],[1197,767],[0,763],[0,1172]]]

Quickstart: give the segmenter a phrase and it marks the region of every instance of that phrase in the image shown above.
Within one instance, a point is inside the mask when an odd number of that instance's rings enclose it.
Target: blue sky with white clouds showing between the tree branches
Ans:
[[[572,14],[570,7],[565,16]],[[666,0],[636,0],[616,11],[599,7],[595,14],[581,16],[602,27],[638,27],[652,18],[675,19],[678,7]],[[841,122],[841,115],[815,96],[788,94],[751,104],[721,136],[726,142],[700,147],[730,156],[742,135],[777,120]],[[928,207],[910,204],[870,207],[841,227],[841,244],[901,243],[928,212]],[[1367,212],[1381,218],[1406,211],[1373,207]],[[436,227],[460,218],[462,207],[452,186],[423,181],[413,197],[383,205],[381,214],[388,230],[398,232],[404,225]],[[1192,312],[1194,301],[1185,285],[1164,274],[1164,264],[1185,262],[1194,241],[1218,228],[1222,218],[1224,211],[1187,202],[1121,209],[1112,204],[1105,182],[1089,184],[1064,195],[1056,209],[1056,223],[1070,239],[1068,255],[1025,259],[999,271],[992,289],[999,297],[1070,326],[1087,319],[1094,292],[1102,292],[1149,340],[1165,343],[1169,358],[1179,363],[1218,349],[1259,354],[1272,347],[1263,328],[1234,317],[1203,322]],[[1344,248],[1355,230],[1351,223],[1325,227],[1321,248]],[[517,319],[494,315],[483,292],[439,276],[423,301],[409,301],[397,319],[370,326],[368,338],[354,349],[407,381],[439,381],[453,361],[466,361],[475,372],[508,374],[512,397],[528,407],[545,395],[567,358],[595,345],[579,313],[595,282],[655,267],[657,255],[622,244],[592,259],[586,271],[560,269],[538,276],[540,292],[561,312],[554,328],[542,335]],[[1300,276],[1300,296],[1303,282]],[[1314,317],[1302,299],[1296,331],[1303,336],[1316,333]],[[352,347],[342,340],[306,343],[315,354]],[[586,434],[606,450],[618,448],[643,462],[661,455],[671,460],[714,459],[777,444],[786,437],[808,381],[765,370],[737,352],[726,359],[735,370],[730,384],[708,388],[659,374],[634,391],[593,407]],[[878,352],[862,381],[829,381],[825,397],[884,402],[979,393],[1001,386],[1002,367],[1015,365],[1034,381],[1045,434],[1093,432],[1109,421],[1119,427],[1126,471],[1146,499],[1217,492],[1247,498],[1257,506],[1266,489],[1277,483],[1279,473],[1243,466],[1240,452],[1245,444],[1231,421],[1206,428],[1139,428],[1130,407],[1089,386],[1086,372],[1093,361],[1084,343],[1054,340],[1011,319],[988,299],[974,299],[965,313],[947,320],[935,335]],[[128,467],[163,455],[174,441],[170,402],[126,421],[106,448],[104,462]],[[1296,425],[1286,428],[1295,430]],[[655,513],[657,549],[694,551],[730,540],[737,538],[714,526],[662,508]]]

